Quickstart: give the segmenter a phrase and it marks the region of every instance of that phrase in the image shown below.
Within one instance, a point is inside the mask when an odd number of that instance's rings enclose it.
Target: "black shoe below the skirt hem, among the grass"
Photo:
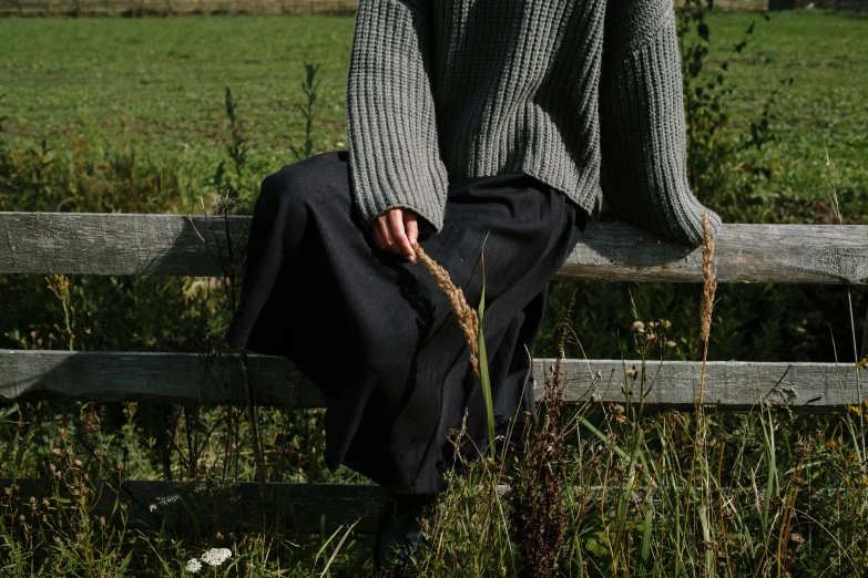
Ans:
[[[396,495],[386,504],[377,537],[374,564],[378,570],[402,570],[422,541],[420,520],[433,514],[437,494]]]

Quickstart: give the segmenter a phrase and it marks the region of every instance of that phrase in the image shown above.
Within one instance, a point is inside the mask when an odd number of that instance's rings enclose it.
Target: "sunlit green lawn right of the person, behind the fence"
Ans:
[[[745,34],[754,22],[753,33]],[[731,130],[749,131],[774,95],[777,141],[763,154],[777,161],[778,173],[767,193],[828,200],[828,149],[845,218],[866,223],[868,19],[799,11],[773,12],[766,21],[718,13],[709,24],[713,60],[729,64]],[[747,44],[737,53],[742,40]]]

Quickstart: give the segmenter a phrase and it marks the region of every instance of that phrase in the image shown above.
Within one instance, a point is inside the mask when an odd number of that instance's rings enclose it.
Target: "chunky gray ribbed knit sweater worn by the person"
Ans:
[[[368,224],[407,207],[439,231],[450,175],[524,173],[698,245],[680,66],[672,0],[359,0],[356,207]]]

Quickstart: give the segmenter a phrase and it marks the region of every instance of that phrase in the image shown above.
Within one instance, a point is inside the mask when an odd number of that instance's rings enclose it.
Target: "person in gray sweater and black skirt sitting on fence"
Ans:
[[[226,342],[290,359],[325,396],[328,467],[395,496],[379,566],[418,546],[466,407],[473,445],[491,443],[417,242],[471,306],[484,247],[496,433],[520,431],[548,283],[603,195],[621,220],[702,242],[680,65],[671,0],[359,1],[349,149],[264,179]]]

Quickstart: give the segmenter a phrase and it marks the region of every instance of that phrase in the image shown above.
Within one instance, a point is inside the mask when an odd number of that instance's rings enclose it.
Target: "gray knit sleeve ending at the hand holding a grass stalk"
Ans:
[[[354,199],[366,224],[392,207],[439,231],[448,176],[437,136],[426,0],[360,0],[347,81]],[[421,224],[425,227],[425,223]]]

